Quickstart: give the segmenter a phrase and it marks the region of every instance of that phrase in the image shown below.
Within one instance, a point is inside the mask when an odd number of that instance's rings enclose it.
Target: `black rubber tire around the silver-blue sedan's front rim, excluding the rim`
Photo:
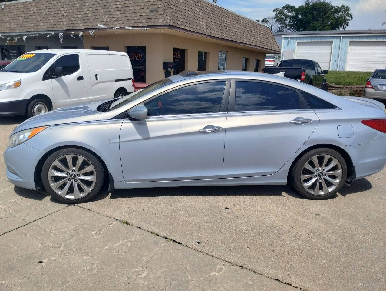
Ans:
[[[51,164],[59,157],[62,157],[64,155],[71,155],[71,154],[79,155],[81,157],[86,158],[88,161],[90,161],[92,166],[95,168],[95,174],[96,174],[96,181],[95,181],[94,187],[91,190],[91,192],[89,194],[87,194],[86,196],[83,196],[83,197],[78,198],[78,199],[68,199],[66,197],[60,196],[51,188],[50,182],[48,180],[49,179],[48,178],[48,171],[49,171],[49,168],[51,167]],[[93,154],[89,153],[88,151],[81,150],[78,148],[66,148],[66,149],[58,150],[58,151],[52,153],[47,158],[46,162],[44,162],[44,165],[42,167],[41,178],[42,178],[44,188],[46,189],[46,191],[49,195],[51,195],[55,199],[58,199],[59,201],[62,201],[64,203],[75,204],[75,203],[82,203],[82,202],[85,202],[87,200],[90,200],[95,195],[97,195],[97,193],[102,188],[104,178],[105,178],[105,171],[103,169],[102,164],[98,160],[98,158],[96,158]]]

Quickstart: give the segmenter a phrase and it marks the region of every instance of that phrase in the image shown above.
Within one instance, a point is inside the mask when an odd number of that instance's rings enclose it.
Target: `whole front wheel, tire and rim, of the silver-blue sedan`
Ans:
[[[101,189],[104,170],[91,153],[78,148],[58,150],[50,155],[42,168],[46,191],[68,204],[85,202]]]

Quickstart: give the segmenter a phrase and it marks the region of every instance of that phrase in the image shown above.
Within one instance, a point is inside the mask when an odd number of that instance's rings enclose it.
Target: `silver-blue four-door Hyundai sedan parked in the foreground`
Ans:
[[[10,135],[7,177],[60,201],[109,190],[285,185],[310,199],[386,164],[385,106],[246,71],[183,73],[47,112]]]

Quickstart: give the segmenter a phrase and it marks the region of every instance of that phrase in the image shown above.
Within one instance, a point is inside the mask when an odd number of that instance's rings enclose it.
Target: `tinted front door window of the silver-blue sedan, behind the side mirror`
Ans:
[[[225,81],[178,88],[146,102],[149,116],[220,112]]]

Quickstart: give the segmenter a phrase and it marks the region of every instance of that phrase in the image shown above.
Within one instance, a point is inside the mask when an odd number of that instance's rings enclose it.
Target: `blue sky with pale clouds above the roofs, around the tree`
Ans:
[[[212,2],[212,0],[208,0]],[[350,6],[353,15],[349,27],[346,29],[386,29],[386,0],[330,0],[333,5]],[[273,9],[282,7],[286,3],[301,5],[304,0],[217,0],[217,4],[246,17],[263,19],[273,16]]]

